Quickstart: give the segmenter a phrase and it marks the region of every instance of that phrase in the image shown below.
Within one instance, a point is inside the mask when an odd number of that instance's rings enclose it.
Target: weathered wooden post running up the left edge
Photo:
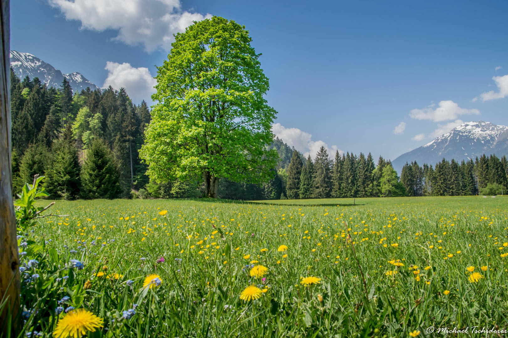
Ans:
[[[0,313],[0,329],[4,336],[12,325],[17,335],[19,311],[19,257],[16,240],[16,217],[12,202],[11,172],[11,106],[9,63],[9,0],[0,0],[2,54],[0,55],[0,299],[7,299]],[[9,316],[11,316],[10,319]],[[0,334],[1,335],[1,334]]]

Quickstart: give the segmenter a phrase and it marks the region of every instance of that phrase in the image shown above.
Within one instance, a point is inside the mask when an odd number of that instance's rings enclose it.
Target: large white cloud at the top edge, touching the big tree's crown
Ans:
[[[180,0],[48,0],[67,20],[81,21],[81,29],[113,29],[113,40],[129,46],[143,44],[147,52],[169,51],[173,34],[193,21],[211,18],[181,10]]]

